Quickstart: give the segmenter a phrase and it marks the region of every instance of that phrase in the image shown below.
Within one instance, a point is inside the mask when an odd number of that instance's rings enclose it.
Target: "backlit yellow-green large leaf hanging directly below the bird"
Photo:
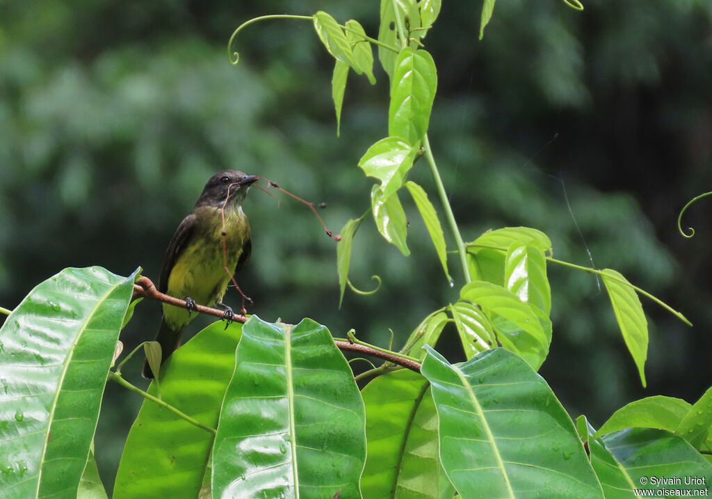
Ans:
[[[216,428],[235,367],[242,324],[217,321],[181,346],[162,366],[162,400]],[[148,392],[157,396],[155,381]],[[190,498],[201,488],[214,435],[147,400],[126,440],[114,499]]]

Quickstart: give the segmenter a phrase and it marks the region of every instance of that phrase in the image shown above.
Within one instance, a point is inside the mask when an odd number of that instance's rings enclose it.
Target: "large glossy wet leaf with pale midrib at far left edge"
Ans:
[[[5,320],[0,497],[76,497],[133,279],[64,269]]]

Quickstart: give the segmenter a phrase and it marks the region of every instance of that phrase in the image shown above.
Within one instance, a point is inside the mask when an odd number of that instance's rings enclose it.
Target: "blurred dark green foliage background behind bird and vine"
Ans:
[[[693,402],[711,384],[710,202],[686,215],[691,240],[676,217],[712,189],[712,3],[584,3],[577,12],[559,0],[501,0],[478,41],[481,4],[446,1],[425,41],[439,70],[431,145],[466,240],[536,227],[555,257],[618,269],[695,324],[643,299],[651,338],[642,389],[602,284],[550,267],[554,335],[540,372],[572,416],[600,426],[628,401]],[[253,16],[320,9],[377,34],[377,1],[0,1],[0,305],[15,307],[68,266],[141,266],[157,281],[172,232],[223,168],[326,202],[334,232],[361,215],[373,180],[356,164],[387,135],[380,66],[377,86],[351,74],[337,138],[333,62],[308,21],[251,26],[237,41],[239,65],[226,55],[231,32]],[[436,200],[424,162],[410,178]],[[412,255],[365,223],[350,277],[368,289],[379,274],[383,287],[370,297],[347,291],[339,310],[333,240],[303,205],[251,190],[253,253],[239,277],[255,300],[249,312],[311,317],[335,336],[355,328],[382,345],[390,328],[402,344],[463,284],[452,257],[456,286],[447,285],[402,199]],[[226,301],[239,307],[234,292]],[[155,303],[137,307],[125,351],[153,338],[159,316]],[[439,349],[461,359],[453,331]],[[124,371],[145,386],[140,364]],[[111,487],[141,401],[112,384],[107,393],[96,456]]]

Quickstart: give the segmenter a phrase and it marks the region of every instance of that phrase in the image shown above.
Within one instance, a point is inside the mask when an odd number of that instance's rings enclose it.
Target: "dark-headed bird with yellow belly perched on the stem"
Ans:
[[[197,315],[191,314],[195,304],[219,307],[225,310],[226,319],[233,317],[232,309],[222,303],[230,282],[224,268],[223,241],[227,268],[236,274],[251,252],[250,224],[242,211],[242,202],[256,180],[255,175],[238,170],[213,175],[193,211],[183,219],[169,242],[158,290],[185,299],[187,307],[163,304],[156,336],[161,345],[162,362],[180,346],[185,326]],[[143,376],[154,377],[148,361],[143,366]]]

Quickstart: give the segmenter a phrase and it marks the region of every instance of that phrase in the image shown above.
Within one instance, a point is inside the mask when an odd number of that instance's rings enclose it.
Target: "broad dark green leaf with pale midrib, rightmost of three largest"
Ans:
[[[603,498],[571,419],[523,359],[491,349],[452,366],[426,349],[440,458],[463,498]]]

